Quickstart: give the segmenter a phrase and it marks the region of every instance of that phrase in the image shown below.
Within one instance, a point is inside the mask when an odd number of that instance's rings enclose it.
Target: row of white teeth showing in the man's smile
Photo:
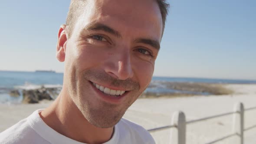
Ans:
[[[114,97],[119,97],[121,95],[123,95],[125,93],[125,91],[121,91],[121,90],[113,90],[107,87],[104,87],[102,85],[98,85],[92,82],[92,84],[95,86],[95,88],[97,88],[98,90],[100,90],[101,92],[110,95],[110,96],[114,96]]]

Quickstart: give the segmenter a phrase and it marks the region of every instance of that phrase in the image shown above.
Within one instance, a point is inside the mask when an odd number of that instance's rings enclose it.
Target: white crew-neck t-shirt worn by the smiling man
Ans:
[[[0,144],[85,144],[50,128],[39,116],[42,110],[0,133]],[[114,128],[112,138],[104,144],[155,144],[147,130],[124,118]]]

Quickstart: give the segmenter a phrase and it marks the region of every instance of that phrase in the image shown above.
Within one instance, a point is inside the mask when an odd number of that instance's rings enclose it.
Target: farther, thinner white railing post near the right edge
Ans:
[[[243,144],[243,129],[244,129],[244,107],[243,103],[239,102],[234,107],[233,114],[233,132],[240,138],[240,143]]]

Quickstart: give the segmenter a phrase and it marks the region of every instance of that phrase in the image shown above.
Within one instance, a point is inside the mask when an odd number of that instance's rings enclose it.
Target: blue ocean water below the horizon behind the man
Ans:
[[[22,96],[11,97],[9,92],[20,87],[40,85],[61,86],[63,73],[55,72],[13,72],[0,71],[0,104],[20,103]],[[256,80],[231,80],[231,79],[204,79],[204,78],[177,78],[177,77],[153,77],[151,83],[158,85],[159,82],[200,82],[200,83],[226,83],[226,84],[256,84]],[[176,92],[161,84],[154,88],[147,88],[146,92]],[[186,92],[185,92],[186,93]]]

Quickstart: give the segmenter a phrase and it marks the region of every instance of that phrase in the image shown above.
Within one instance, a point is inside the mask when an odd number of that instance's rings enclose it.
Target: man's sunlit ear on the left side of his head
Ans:
[[[57,42],[57,49],[56,49],[56,58],[59,60],[59,62],[65,61],[66,43],[67,43],[66,25],[62,24],[59,28],[58,42]]]

